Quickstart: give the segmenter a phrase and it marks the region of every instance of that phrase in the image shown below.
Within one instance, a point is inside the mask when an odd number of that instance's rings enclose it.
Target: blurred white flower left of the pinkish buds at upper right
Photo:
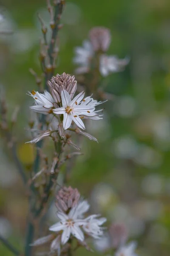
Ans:
[[[76,56],[73,61],[75,64],[79,64],[80,67],[76,70],[76,73],[85,73],[88,71],[90,60],[94,55],[92,44],[89,41],[84,41],[82,47],[75,48]]]

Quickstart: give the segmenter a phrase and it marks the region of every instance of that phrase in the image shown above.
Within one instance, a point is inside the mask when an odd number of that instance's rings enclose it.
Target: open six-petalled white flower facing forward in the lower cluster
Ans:
[[[71,211],[66,215],[64,212],[57,212],[57,217],[59,218],[59,222],[54,224],[49,228],[49,230],[58,232],[63,230],[61,236],[62,244],[65,244],[70,238],[71,234],[75,236],[78,240],[84,240],[84,234],[79,226],[84,224],[84,220],[77,219],[78,212],[75,207],[71,209]]]

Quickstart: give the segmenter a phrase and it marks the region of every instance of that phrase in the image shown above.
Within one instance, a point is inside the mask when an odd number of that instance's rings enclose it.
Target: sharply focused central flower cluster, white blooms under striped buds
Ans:
[[[30,108],[37,113],[48,115],[51,119],[48,130],[40,131],[40,134],[33,138],[30,143],[37,143],[48,136],[54,137],[57,131],[61,137],[64,137],[64,130],[71,128],[74,123],[85,130],[82,119],[102,119],[102,115],[99,114],[102,110],[96,111],[96,106],[103,102],[97,102],[91,96],[84,98],[84,91],[74,97],[77,89],[77,81],[75,81],[74,76],[66,73],[57,74],[48,81],[48,85],[51,93],[46,90],[44,93],[34,90],[28,93],[35,100],[35,105]],[[74,131],[81,133],[77,128]],[[96,140],[90,134],[84,133],[83,135],[91,140]]]

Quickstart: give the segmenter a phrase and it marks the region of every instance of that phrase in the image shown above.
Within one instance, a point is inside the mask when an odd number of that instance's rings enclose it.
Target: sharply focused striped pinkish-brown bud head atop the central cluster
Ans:
[[[62,75],[57,74],[53,76],[50,81],[48,81],[48,85],[51,90],[51,95],[53,96],[55,102],[61,102],[61,92],[62,90],[66,90],[71,99],[73,99],[74,93],[77,90],[77,81],[75,81],[75,77],[65,72]]]

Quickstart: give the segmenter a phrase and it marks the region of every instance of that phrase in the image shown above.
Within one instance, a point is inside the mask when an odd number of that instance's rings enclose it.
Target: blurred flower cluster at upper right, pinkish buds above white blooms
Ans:
[[[129,58],[119,59],[115,55],[106,55],[111,43],[109,29],[94,27],[89,32],[89,41],[85,40],[82,47],[75,48],[74,63],[79,65],[76,73],[88,73],[92,60],[95,56],[99,58],[99,71],[102,76],[109,73],[119,72],[129,63]]]

